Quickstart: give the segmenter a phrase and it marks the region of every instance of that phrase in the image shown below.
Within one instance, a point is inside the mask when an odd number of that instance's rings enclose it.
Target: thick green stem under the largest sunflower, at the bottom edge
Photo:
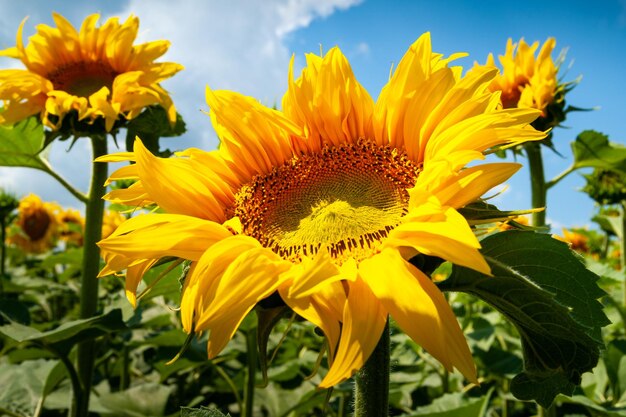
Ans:
[[[389,415],[389,319],[380,340],[355,376],[354,417]]]

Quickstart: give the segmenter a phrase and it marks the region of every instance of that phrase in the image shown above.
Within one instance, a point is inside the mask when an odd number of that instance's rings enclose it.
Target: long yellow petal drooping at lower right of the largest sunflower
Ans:
[[[426,275],[390,249],[364,260],[359,274],[404,332],[448,371],[455,367],[476,382],[476,368],[459,323]]]

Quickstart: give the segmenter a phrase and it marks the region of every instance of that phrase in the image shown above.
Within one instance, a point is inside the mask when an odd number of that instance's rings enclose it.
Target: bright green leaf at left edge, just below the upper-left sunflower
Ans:
[[[30,117],[11,127],[0,126],[0,166],[45,169],[43,125]]]

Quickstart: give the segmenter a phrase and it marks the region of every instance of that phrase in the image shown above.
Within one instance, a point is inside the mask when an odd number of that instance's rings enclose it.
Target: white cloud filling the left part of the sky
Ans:
[[[0,0],[2,1],[2,0]],[[163,83],[168,89],[179,112],[187,122],[188,132],[182,138],[162,139],[162,144],[171,149],[192,146],[212,149],[217,139],[210,119],[200,112],[207,110],[204,100],[205,86],[214,89],[229,89],[258,98],[267,105],[280,105],[287,87],[287,70],[291,52],[286,46],[286,36],[304,28],[315,19],[330,16],[358,4],[360,0],[237,0],[237,1],[185,1],[173,4],[167,0],[130,0],[115,15],[125,19],[129,14],[140,18],[140,42],[168,39],[171,47],[165,60],[179,62],[185,70]],[[76,27],[80,27],[85,12],[57,11],[68,16]],[[11,16],[6,23],[11,30],[17,28],[21,13],[9,13],[6,2],[3,13]],[[110,9],[109,9],[110,10]],[[52,10],[41,10],[31,15],[29,24],[39,23],[35,17],[47,15],[50,23]],[[109,11],[109,13],[112,13]],[[21,16],[18,18],[17,15]],[[109,16],[102,16],[101,23]],[[6,26],[3,26],[6,27]],[[28,25],[25,38],[33,33]],[[15,34],[10,36],[13,45]],[[5,41],[6,42],[6,41]],[[2,61],[2,67],[8,63]],[[120,138],[123,143],[123,138]],[[79,141],[80,142],[80,141]],[[85,144],[87,141],[84,141]],[[60,167],[61,174],[86,189],[89,175],[88,164],[75,166],[76,160],[88,161],[87,147],[73,150],[70,158],[64,153],[62,144],[55,143],[51,157],[53,166]],[[73,198],[60,187],[52,187],[52,179],[33,170],[0,171],[4,183],[15,192],[26,194],[38,191],[44,199],[57,200],[64,205],[75,205]],[[44,185],[41,185],[44,184]],[[56,184],[55,184],[56,185]],[[83,188],[84,187],[84,188]]]

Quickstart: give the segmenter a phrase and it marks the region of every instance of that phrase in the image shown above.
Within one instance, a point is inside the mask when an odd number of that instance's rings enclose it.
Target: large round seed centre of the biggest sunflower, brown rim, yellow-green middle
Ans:
[[[403,152],[361,139],[294,157],[237,194],[244,233],[297,260],[321,247],[341,262],[376,251],[400,223],[419,167]]]

